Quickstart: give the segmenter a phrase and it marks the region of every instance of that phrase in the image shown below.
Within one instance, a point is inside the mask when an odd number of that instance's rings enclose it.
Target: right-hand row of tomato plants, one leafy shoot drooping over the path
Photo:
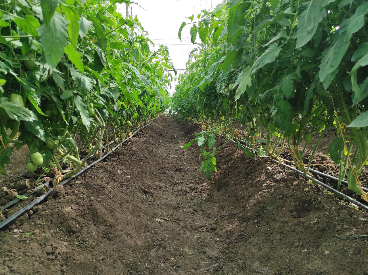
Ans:
[[[243,125],[260,157],[287,148],[307,173],[333,129],[338,189],[346,178],[367,200],[360,182],[368,165],[367,14],[364,0],[229,0],[183,22],[179,38],[190,26],[198,47],[179,76],[173,109],[178,119],[208,125],[196,135],[208,178],[223,147],[215,147],[215,134],[226,128],[233,134]]]

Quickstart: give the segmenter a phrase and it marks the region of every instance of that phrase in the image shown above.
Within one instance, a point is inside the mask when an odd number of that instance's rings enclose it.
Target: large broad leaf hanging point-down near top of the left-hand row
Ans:
[[[47,64],[55,68],[64,53],[67,44],[68,22],[60,14],[55,13],[48,25],[38,28],[40,42]]]

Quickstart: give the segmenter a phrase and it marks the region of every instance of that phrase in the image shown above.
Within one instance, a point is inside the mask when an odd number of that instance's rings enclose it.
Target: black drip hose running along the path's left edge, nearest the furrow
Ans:
[[[59,183],[58,185],[65,185],[68,182],[70,182],[72,179],[77,178],[79,175],[81,175],[82,173],[84,173],[85,171],[87,171],[89,168],[91,168],[93,165],[95,165],[96,163],[104,160],[107,156],[109,156],[109,154],[111,154],[113,151],[115,151],[118,147],[121,146],[121,144],[123,144],[124,142],[126,142],[127,140],[131,139],[135,133],[137,133],[140,129],[145,128],[146,126],[150,125],[153,121],[155,121],[157,118],[153,119],[151,122],[149,122],[149,124],[146,124],[142,127],[139,127],[137,130],[135,130],[134,133],[132,133],[132,135],[130,137],[127,137],[126,139],[124,139],[122,142],[120,142],[119,144],[117,144],[113,149],[111,149],[109,152],[107,152],[104,156],[102,156],[101,158],[99,158],[96,161],[93,161],[91,164],[87,165],[85,168],[81,169],[77,174],[72,175],[70,178],[66,179],[65,181]],[[46,183],[44,183],[46,185]],[[40,187],[40,186],[38,186]],[[38,188],[37,187],[37,188]],[[36,188],[36,189],[37,189]],[[41,187],[42,188],[42,187]],[[45,200],[50,194],[51,192],[54,190],[54,187],[51,188],[49,191],[47,191],[45,194],[42,194],[41,196],[39,196],[37,199],[33,200],[31,203],[29,203],[27,206],[23,207],[21,210],[19,210],[18,212],[14,213],[13,215],[11,215],[9,218],[5,219],[4,221],[0,222],[0,229],[3,229],[5,226],[7,226],[10,222],[15,221],[15,219],[17,219],[18,217],[20,217],[21,215],[23,215],[25,212],[31,210],[33,207],[35,207],[36,205],[40,204],[43,200]]]

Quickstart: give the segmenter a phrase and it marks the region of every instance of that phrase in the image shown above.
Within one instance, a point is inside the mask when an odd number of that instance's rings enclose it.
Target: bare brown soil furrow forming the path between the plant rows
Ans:
[[[368,274],[368,238],[335,236],[366,213],[235,143],[207,181],[198,131],[160,117],[57,186],[0,232],[0,274]]]

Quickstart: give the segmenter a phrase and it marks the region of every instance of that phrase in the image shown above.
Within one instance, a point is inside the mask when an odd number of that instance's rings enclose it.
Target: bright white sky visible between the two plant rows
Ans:
[[[182,32],[181,41],[178,31],[182,22],[188,22],[186,17],[194,14],[196,17],[201,10],[213,10],[222,0],[135,0],[140,6],[132,4],[133,16],[137,15],[142,26],[148,31],[148,37],[157,44],[167,45],[174,67],[185,69],[189,53],[195,45],[190,42],[190,26]],[[125,14],[125,6],[120,5],[120,12]],[[145,10],[144,10],[144,9]],[[153,47],[155,50],[158,45]],[[178,73],[184,70],[178,71]],[[172,83],[170,94],[175,92],[175,83]],[[170,87],[169,87],[170,88]]]

